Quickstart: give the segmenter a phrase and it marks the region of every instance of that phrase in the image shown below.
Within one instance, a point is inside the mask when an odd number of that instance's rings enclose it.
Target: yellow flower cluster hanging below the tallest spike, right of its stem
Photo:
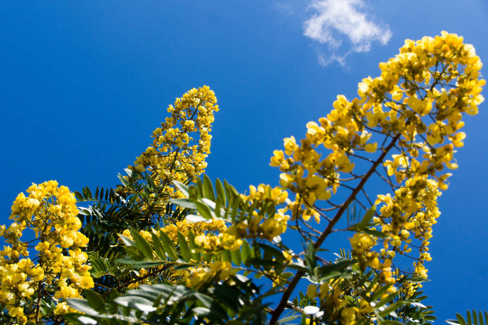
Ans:
[[[427,278],[424,263],[432,259],[428,246],[432,237],[432,226],[437,223],[436,219],[440,215],[437,206],[437,197],[440,194],[436,181],[427,176],[416,176],[397,189],[394,197],[389,194],[378,195],[375,204],[383,205],[380,208],[380,217],[374,217],[373,220],[376,227],[388,236],[382,240],[382,248],[375,250],[378,238],[369,234],[356,233],[349,239],[352,255],[358,260],[360,268],[365,270],[370,267],[380,274],[373,290],[377,290],[382,284],[395,284],[404,277],[398,269],[392,268],[392,259],[396,253],[404,255],[412,251],[411,247],[414,245],[411,235],[419,242],[415,246],[419,248],[419,256],[410,256],[416,259],[414,277]],[[401,293],[410,296],[422,285],[403,280],[398,287]],[[395,288],[391,287],[389,290]]]

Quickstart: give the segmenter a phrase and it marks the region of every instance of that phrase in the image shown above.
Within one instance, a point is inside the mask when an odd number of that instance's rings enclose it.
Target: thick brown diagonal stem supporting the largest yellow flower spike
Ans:
[[[331,220],[329,225],[327,226],[326,230],[323,231],[322,235],[317,239],[317,241],[314,243],[315,248],[319,248],[320,245],[322,245],[323,241],[329,236],[329,234],[332,232],[333,227],[337,224],[339,219],[341,219],[342,214],[346,210],[346,208],[349,206],[349,204],[356,198],[356,195],[361,191],[363,188],[364,184],[366,181],[369,179],[369,177],[374,173],[376,170],[376,167],[383,161],[384,157],[388,153],[388,151],[393,148],[395,145],[396,141],[400,137],[400,133],[398,133],[390,142],[390,144],[383,150],[383,153],[378,157],[378,159],[373,163],[371,168],[368,170],[368,172],[363,176],[361,181],[359,182],[358,186],[353,190],[351,195],[347,198],[347,200],[341,205],[339,210],[336,212],[336,215],[334,218]],[[298,216],[297,216],[298,218]],[[288,298],[290,298],[291,293],[295,289],[296,285],[298,284],[298,281],[301,279],[301,277],[305,274],[304,271],[297,271],[295,276],[290,282],[290,285],[288,288],[286,288],[285,292],[283,293],[283,296],[281,297],[281,300],[276,306],[276,308],[273,310],[271,313],[271,320],[270,324],[276,324],[278,321],[278,318],[280,317],[281,313],[285,309],[286,305],[288,304]]]

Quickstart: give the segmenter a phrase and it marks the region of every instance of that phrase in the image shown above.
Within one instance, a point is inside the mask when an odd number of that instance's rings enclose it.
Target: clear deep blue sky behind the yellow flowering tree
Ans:
[[[220,107],[209,176],[240,191],[276,185],[269,158],[282,139],[303,138],[337,94],[356,96],[404,39],[447,30],[486,63],[487,26],[481,0],[4,2],[0,223],[31,182],[115,185],[167,105],[203,84]],[[459,169],[440,198],[424,286],[440,319],[488,308],[487,118],[486,102],[466,117]]]

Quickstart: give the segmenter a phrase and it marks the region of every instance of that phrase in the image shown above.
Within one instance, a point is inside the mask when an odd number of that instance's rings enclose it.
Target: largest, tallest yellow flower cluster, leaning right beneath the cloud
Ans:
[[[379,77],[359,83],[359,98],[337,96],[327,117],[307,124],[305,139],[285,138],[285,150],[274,151],[271,166],[283,172],[281,186],[296,194],[289,203],[293,218],[313,215],[318,221],[309,210],[315,201],[328,200],[340,184],[362,176],[341,178],[355,168],[354,156],[380,153],[383,160],[396,150],[384,161],[385,177],[394,175],[401,183],[430,175],[440,189],[447,188],[450,174],[439,172],[444,166],[457,168],[453,154],[465,138],[459,132],[462,114],[477,113],[485,80],[479,79],[481,62],[474,48],[456,34],[441,34],[406,40],[398,55],[379,64]],[[373,141],[374,133],[385,135],[382,144]],[[332,152],[322,156],[320,145]]]

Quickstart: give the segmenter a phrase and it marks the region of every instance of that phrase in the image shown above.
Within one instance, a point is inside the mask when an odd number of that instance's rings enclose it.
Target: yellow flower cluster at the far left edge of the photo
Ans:
[[[9,244],[0,251],[0,303],[20,323],[42,317],[34,299],[53,293],[58,302],[79,297],[82,289],[94,286],[88,255],[80,249],[87,246],[88,238],[79,232],[82,223],[76,216],[74,194],[52,180],[32,184],[27,193],[20,193],[12,205],[14,222],[0,227],[0,235]],[[20,238],[26,229],[34,232],[34,239],[23,242]],[[29,248],[37,251],[34,260],[29,258]],[[54,313],[67,310],[60,302]]]

